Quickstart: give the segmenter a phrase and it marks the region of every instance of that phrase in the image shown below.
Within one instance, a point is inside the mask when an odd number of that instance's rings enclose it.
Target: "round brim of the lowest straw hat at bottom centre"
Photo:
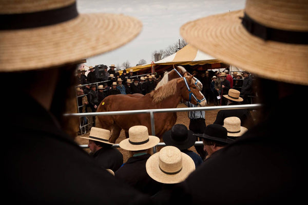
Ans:
[[[187,176],[195,170],[195,162],[190,156],[181,152],[182,154],[182,170],[177,174],[165,174],[159,168],[159,152],[151,155],[146,161],[146,172],[148,175],[161,183],[179,183],[184,181]]]

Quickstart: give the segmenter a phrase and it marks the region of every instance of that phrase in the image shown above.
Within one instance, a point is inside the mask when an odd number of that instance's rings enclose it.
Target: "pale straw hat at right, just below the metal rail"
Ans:
[[[238,117],[225,118],[223,127],[227,129],[228,137],[240,137],[247,131],[247,128],[241,126],[241,120]]]

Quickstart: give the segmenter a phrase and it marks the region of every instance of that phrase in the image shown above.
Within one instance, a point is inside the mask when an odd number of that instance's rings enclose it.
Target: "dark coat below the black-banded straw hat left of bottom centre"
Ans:
[[[115,178],[125,181],[137,190],[153,195],[161,189],[161,183],[152,179],[146,172],[145,163],[150,154],[130,157],[126,163],[115,172]]]

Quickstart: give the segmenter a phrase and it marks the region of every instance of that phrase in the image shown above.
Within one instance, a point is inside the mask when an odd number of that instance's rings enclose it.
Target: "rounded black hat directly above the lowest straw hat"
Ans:
[[[183,150],[195,145],[197,137],[193,134],[194,132],[188,130],[185,125],[177,124],[163,134],[163,140],[166,145]]]

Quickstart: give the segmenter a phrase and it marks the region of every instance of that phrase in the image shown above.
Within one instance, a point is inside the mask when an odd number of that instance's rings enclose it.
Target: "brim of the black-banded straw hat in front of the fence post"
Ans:
[[[151,136],[149,135],[149,141],[145,144],[141,145],[132,145],[129,142],[129,138],[123,139],[120,141],[119,146],[120,148],[128,151],[138,151],[138,150],[147,150],[152,147],[155,147],[159,143],[160,139],[157,136]]]

